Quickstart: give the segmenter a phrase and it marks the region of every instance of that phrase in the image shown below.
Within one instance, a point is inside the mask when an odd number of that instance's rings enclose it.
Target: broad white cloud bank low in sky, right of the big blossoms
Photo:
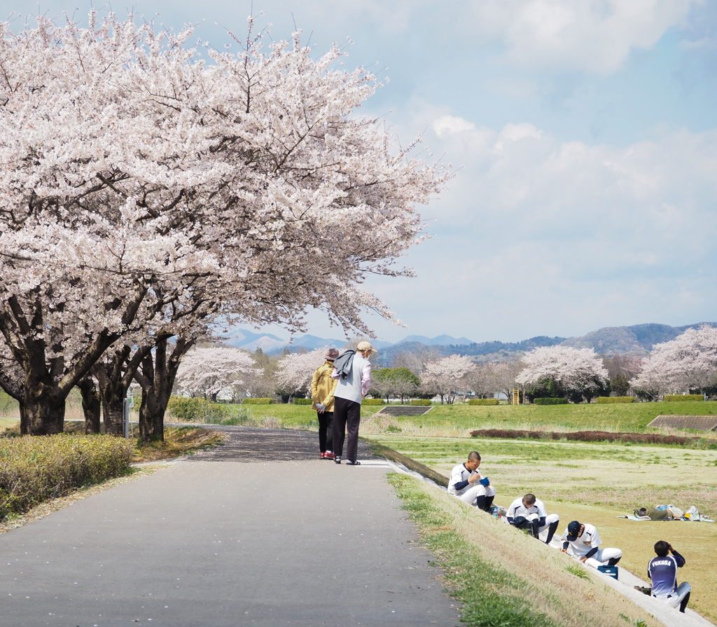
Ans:
[[[415,126],[440,130],[426,143],[464,169],[424,209],[417,278],[375,284],[411,332],[508,340],[714,318],[717,130],[615,148],[430,108]]]

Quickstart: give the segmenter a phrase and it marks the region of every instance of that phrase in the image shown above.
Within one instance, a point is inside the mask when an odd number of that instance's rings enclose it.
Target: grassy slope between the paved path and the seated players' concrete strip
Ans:
[[[389,476],[470,627],[655,625],[566,555],[406,475]]]

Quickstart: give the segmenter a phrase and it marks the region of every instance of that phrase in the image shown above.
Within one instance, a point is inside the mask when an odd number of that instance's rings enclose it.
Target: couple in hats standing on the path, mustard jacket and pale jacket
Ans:
[[[315,370],[311,380],[311,406],[318,415],[321,459],[341,463],[343,440],[348,432],[346,463],[348,466],[361,466],[356,459],[361,401],[371,387],[369,357],[375,352],[367,341],[359,342],[355,351],[341,354],[338,349],[328,349],[326,362]]]

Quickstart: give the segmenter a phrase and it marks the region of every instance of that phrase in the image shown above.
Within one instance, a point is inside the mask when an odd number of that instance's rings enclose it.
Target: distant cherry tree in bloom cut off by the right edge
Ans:
[[[708,324],[687,329],[675,339],[655,344],[632,382],[649,398],[706,392],[717,385],[717,328]]]

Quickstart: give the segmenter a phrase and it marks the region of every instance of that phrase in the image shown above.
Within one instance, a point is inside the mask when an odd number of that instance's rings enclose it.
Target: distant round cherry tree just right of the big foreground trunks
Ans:
[[[195,347],[182,358],[174,385],[179,392],[216,401],[219,392],[240,385],[245,375],[256,373],[255,361],[246,351],[221,346]]]

